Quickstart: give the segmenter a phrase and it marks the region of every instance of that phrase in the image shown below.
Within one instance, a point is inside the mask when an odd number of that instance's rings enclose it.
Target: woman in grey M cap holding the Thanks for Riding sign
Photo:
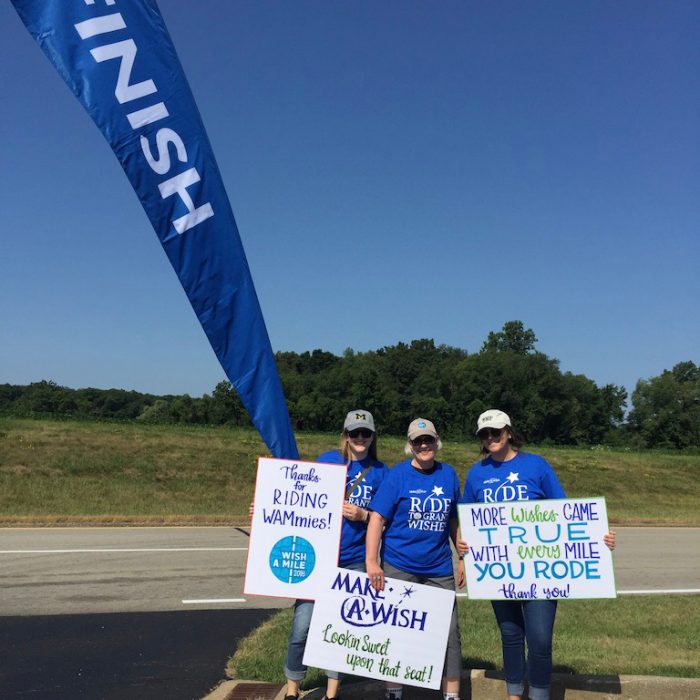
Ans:
[[[377,459],[377,438],[372,414],[363,409],[350,411],[340,436],[340,448],[324,452],[316,461],[347,465],[339,566],[364,571],[365,538],[370,515],[368,507],[379,484],[389,471],[386,464]],[[302,659],[313,609],[314,604],[310,600],[297,600],[294,606],[294,620],[284,667],[287,677],[285,700],[296,700],[299,697],[299,683],[306,676],[306,666]],[[326,698],[333,700],[338,696],[340,674],[336,671],[326,671],[326,675]]]

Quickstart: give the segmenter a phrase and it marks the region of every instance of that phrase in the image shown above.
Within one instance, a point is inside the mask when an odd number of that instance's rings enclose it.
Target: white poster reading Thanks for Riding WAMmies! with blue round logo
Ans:
[[[245,595],[313,600],[338,565],[347,469],[261,457]]]

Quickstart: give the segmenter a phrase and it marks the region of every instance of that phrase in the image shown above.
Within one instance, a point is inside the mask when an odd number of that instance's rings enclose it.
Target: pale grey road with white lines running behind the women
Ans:
[[[0,615],[290,605],[243,596],[247,545],[235,528],[0,529]],[[618,528],[617,588],[700,590],[699,553],[698,528]]]

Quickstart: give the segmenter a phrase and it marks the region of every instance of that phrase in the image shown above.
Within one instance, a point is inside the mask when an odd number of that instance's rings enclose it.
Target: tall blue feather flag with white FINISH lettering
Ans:
[[[155,1],[12,2],[112,147],[272,455],[297,459],[231,205]]]

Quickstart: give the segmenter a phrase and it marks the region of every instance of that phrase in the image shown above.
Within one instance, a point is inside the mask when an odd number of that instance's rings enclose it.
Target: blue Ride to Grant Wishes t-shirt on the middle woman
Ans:
[[[382,559],[417,576],[450,576],[450,520],[457,517],[459,480],[449,464],[416,469],[411,460],[389,471],[372,510],[387,519]]]

